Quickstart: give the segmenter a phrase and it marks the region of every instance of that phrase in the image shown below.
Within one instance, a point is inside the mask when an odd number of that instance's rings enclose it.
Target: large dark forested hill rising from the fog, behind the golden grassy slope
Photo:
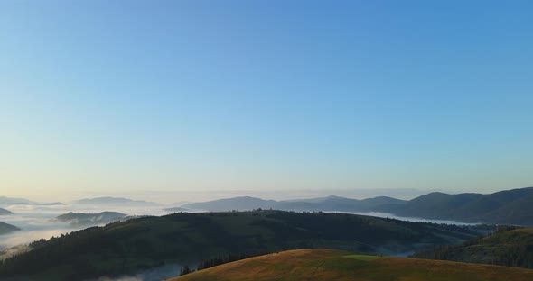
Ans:
[[[0,265],[0,279],[25,276],[46,280],[53,276],[53,280],[83,280],[131,274],[170,261],[195,265],[229,253],[280,249],[402,254],[475,236],[458,226],[342,213],[173,213],[113,222],[35,242],[30,252]]]

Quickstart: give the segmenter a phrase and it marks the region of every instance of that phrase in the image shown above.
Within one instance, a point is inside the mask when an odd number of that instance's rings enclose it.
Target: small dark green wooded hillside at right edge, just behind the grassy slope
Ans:
[[[461,245],[420,250],[414,257],[533,268],[533,229],[497,231]]]

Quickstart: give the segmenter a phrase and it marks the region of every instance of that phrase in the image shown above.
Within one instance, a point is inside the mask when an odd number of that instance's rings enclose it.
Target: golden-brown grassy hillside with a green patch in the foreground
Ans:
[[[533,270],[416,258],[379,258],[332,249],[298,249],[247,258],[174,278],[173,281],[533,280]]]

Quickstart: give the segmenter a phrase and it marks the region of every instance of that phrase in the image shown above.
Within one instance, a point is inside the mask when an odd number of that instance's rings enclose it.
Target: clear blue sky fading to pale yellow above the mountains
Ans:
[[[0,195],[533,186],[532,8],[0,1]]]

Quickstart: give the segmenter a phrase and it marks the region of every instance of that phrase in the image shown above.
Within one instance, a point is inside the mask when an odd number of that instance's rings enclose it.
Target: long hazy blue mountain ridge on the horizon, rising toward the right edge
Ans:
[[[433,192],[409,201],[387,196],[359,200],[332,195],[285,201],[244,196],[184,204],[182,207],[202,211],[248,211],[261,208],[299,212],[380,212],[431,220],[533,226],[533,187],[489,195]]]

